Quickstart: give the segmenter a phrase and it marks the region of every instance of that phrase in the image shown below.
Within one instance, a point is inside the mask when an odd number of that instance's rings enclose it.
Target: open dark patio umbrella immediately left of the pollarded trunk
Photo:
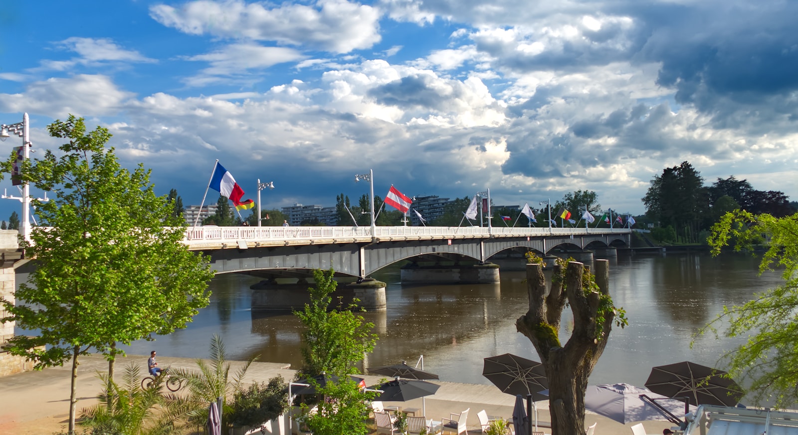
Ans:
[[[548,389],[546,370],[540,362],[512,354],[491,356],[484,359],[482,375],[502,393],[521,394],[524,398],[531,394],[533,401],[548,398],[540,394]]]

